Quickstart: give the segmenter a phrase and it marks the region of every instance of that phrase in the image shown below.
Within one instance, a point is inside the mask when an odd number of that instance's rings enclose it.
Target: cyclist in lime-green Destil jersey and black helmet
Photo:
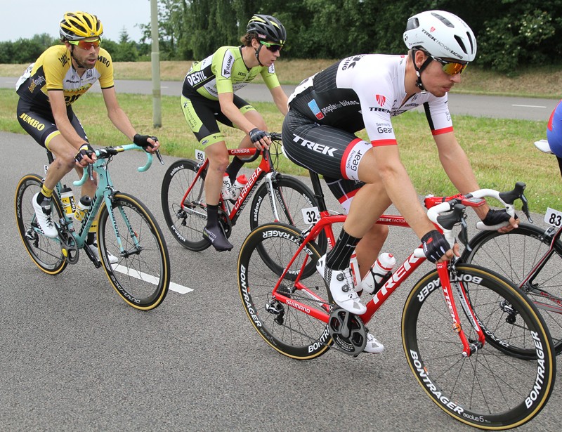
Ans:
[[[254,15],[248,22],[246,34],[240,38],[242,46],[221,46],[209,57],[193,63],[183,81],[181,107],[185,121],[209,159],[205,178],[207,226],[203,230],[203,238],[217,251],[233,248],[218,223],[218,201],[223,181],[226,182],[226,190],[230,190],[244,164],[238,157],[233,157],[233,162],[228,164],[225,138],[217,122],[246,133],[239,148],[254,145],[263,150],[269,147],[271,141],[261,114],[235,92],[261,74],[275,105],[283,115],[287,114],[287,95],[279,84],[273,65],[280,57],[286,39],[285,27],[277,18]],[[234,190],[232,193],[235,193]]]

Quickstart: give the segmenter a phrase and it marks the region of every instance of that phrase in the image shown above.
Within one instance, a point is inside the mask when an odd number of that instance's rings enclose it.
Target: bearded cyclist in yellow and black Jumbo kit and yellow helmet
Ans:
[[[62,45],[47,48],[32,63],[15,85],[18,96],[18,122],[34,140],[51,151],[55,161],[49,166],[41,188],[33,197],[37,222],[47,237],[58,236],[52,217],[51,197],[58,181],[76,169],[79,177],[88,164],[96,161],[86,132],[72,110],[74,103],[100,81],[107,116],[119,131],[147,152],[159,148],[158,139],[140,135],[117,102],[110,54],[100,47],[103,25],[86,12],[67,12],[59,25]],[[97,180],[88,179],[81,195],[92,197]],[[91,228],[87,244],[95,256],[98,248],[96,227]],[[110,257],[110,261],[117,261]]]

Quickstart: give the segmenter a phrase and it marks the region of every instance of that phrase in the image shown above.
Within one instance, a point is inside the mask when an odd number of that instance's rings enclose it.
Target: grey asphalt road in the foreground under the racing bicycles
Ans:
[[[13,199],[19,178],[41,173],[46,158],[27,135],[0,132],[0,148],[1,431],[472,430],[426,397],[405,362],[401,309],[429,267],[370,324],[384,353],[290,360],[262,341],[240,304],[233,270],[249,214],[233,230],[233,251],[187,251],[164,226],[166,167],[140,174],[143,155],[115,157],[115,184],[152,209],[166,235],[171,279],[192,289],[169,292],[143,313],[126,306],[103,270],[85,259],[54,277],[34,266],[16,230]],[[174,159],[164,160],[169,166]],[[396,228],[386,248],[400,260],[404,244],[417,242]],[[521,431],[558,430],[559,388]]]

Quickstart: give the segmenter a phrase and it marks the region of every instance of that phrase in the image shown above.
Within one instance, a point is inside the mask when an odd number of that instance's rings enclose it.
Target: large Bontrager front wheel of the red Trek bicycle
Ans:
[[[456,272],[452,284],[462,280],[478,321],[498,339],[517,339],[518,346],[534,352],[532,360],[506,354],[490,343],[462,356],[437,270],[432,270],[414,285],[404,306],[402,339],[408,365],[431,400],[455,419],[483,429],[521,426],[542,410],[554,387],[556,357],[549,331],[537,308],[509,280],[467,264],[457,266]],[[518,326],[497,319],[502,299],[518,310],[523,321]],[[459,315],[467,338],[476,341],[466,315]]]

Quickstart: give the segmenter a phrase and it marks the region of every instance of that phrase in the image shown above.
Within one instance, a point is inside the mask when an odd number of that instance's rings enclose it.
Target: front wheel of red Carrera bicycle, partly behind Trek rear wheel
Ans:
[[[280,221],[275,221],[273,211],[270,205],[267,184],[262,183],[254,200],[251,203],[250,213],[250,230],[256,229],[259,225],[268,222],[280,222],[293,225],[295,228],[303,231],[309,227],[309,223],[305,221],[302,209],[317,207],[318,202],[314,197],[313,192],[306,184],[298,178],[284,176],[277,174],[273,179],[273,197],[277,206],[277,213],[279,214]],[[326,252],[327,239],[325,233],[322,231],[318,238],[315,240],[318,251],[322,256]],[[259,247],[259,254],[263,261],[268,264],[271,270],[281,275],[284,266],[275,263],[266,249]],[[304,277],[308,277],[316,271],[315,263],[310,263],[304,270]]]

